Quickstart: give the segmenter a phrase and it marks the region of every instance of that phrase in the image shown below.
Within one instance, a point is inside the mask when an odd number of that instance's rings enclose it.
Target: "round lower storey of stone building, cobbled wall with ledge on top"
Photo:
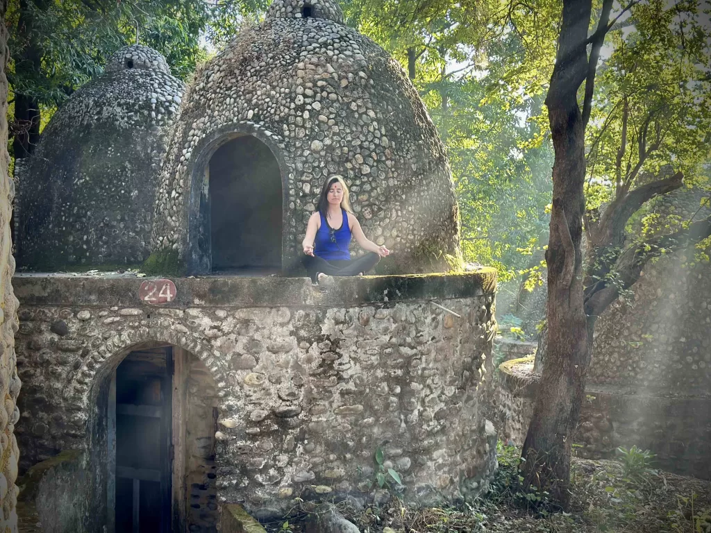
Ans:
[[[214,531],[228,503],[271,517],[297,496],[373,497],[378,448],[414,502],[473,497],[495,468],[480,409],[492,269],[342,279],[328,293],[309,279],[184,278],[164,306],[141,302],[134,276],[15,284],[21,460],[82,451],[64,470],[74,480],[51,478],[85,491],[91,512],[67,518],[77,532],[110,515],[107,390],[122,359],[149,346],[172,346],[175,360],[174,531]]]

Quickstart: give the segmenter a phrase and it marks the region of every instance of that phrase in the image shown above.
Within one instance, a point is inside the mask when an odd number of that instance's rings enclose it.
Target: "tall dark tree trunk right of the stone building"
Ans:
[[[555,69],[546,97],[555,163],[548,267],[547,354],[523,444],[525,485],[570,502],[570,451],[590,362],[583,307],[584,120],[577,90],[587,77],[591,0],[564,0]],[[591,324],[592,325],[592,324]]]

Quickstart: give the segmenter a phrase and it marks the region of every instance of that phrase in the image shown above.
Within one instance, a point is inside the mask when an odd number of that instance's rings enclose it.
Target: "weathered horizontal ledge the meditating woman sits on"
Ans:
[[[72,276],[16,274],[15,295],[26,306],[143,306],[135,276]],[[337,279],[321,291],[308,278],[208,276],[173,278],[177,296],[159,307],[274,307],[351,306],[359,303],[392,305],[397,301],[491,296],[496,269],[461,274],[407,274]]]

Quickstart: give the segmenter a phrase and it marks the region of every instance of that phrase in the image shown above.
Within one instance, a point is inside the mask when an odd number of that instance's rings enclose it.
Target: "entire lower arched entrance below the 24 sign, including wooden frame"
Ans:
[[[102,385],[108,533],[216,532],[215,382],[173,345],[144,343]],[[105,400],[102,401],[102,398]],[[103,403],[103,407],[102,404]]]

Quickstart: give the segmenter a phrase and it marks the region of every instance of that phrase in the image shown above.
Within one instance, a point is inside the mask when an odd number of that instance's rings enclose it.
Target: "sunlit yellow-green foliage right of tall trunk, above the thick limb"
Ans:
[[[658,176],[697,183],[711,156],[711,66],[700,6],[651,0],[608,36],[587,129],[588,208]]]

